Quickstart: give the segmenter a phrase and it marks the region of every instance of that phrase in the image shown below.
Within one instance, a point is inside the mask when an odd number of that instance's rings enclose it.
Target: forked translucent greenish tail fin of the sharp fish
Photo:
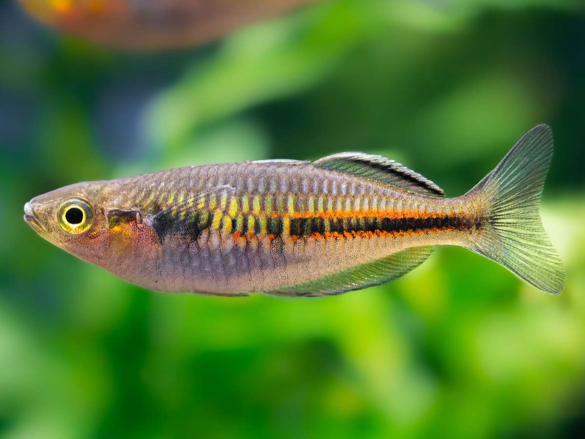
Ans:
[[[558,294],[565,288],[565,270],[538,212],[552,153],[550,127],[532,128],[467,196],[479,196],[488,212],[472,249],[536,288]]]

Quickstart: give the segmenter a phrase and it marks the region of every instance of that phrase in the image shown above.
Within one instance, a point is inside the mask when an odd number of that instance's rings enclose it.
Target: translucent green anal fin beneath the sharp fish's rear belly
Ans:
[[[275,295],[317,297],[373,287],[397,279],[415,269],[425,262],[434,249],[434,246],[413,247],[339,273],[267,292]]]

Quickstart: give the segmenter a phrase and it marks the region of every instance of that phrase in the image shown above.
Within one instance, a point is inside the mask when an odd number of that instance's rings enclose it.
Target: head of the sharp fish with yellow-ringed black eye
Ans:
[[[37,234],[67,252],[98,263],[109,248],[108,206],[115,203],[106,182],[61,187],[25,204],[25,221]]]

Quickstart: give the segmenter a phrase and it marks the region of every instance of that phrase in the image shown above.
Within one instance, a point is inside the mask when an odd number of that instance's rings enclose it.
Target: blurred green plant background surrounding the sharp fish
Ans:
[[[584,102],[580,1],[341,0],[128,54],[0,0],[0,437],[585,437]],[[457,196],[542,122],[560,296],[460,248],[338,297],[160,294],[22,220],[81,180],[348,150]]]

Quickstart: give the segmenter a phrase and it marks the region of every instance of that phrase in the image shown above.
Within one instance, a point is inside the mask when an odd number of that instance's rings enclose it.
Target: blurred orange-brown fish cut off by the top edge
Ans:
[[[107,46],[156,50],[201,44],[316,0],[19,0],[30,15]]]

